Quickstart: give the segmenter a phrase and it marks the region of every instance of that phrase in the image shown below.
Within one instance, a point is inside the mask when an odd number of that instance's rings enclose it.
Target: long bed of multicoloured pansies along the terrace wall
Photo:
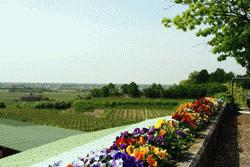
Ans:
[[[185,103],[172,114],[172,120],[160,120],[149,128],[122,132],[113,145],[80,156],[67,167],[156,167],[175,166],[194,140],[221,107],[221,101],[211,97]],[[61,166],[61,161],[50,165]]]

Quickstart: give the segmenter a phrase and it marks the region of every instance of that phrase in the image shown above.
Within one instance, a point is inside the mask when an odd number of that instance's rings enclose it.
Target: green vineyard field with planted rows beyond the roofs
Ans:
[[[98,98],[84,100],[92,109],[75,112],[65,110],[35,109],[39,102],[24,102],[20,98],[28,93],[0,92],[0,118],[22,120],[39,125],[51,125],[81,131],[95,131],[170,115],[179,104],[188,99]],[[39,95],[39,94],[36,94]],[[79,93],[44,92],[40,95],[56,101],[74,101]]]

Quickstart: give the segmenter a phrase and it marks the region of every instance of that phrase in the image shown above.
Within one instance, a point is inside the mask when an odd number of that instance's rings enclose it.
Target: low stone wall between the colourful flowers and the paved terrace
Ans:
[[[199,132],[195,143],[185,153],[183,162],[177,163],[178,167],[211,167],[214,166],[215,150],[219,140],[221,125],[227,121],[230,111],[222,109],[207,129]]]

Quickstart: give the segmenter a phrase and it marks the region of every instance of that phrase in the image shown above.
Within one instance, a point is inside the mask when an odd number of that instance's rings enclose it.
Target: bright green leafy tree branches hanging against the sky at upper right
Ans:
[[[175,0],[188,8],[174,18],[164,18],[166,27],[175,25],[183,31],[199,28],[197,36],[210,36],[208,44],[218,60],[234,57],[250,70],[249,0]]]

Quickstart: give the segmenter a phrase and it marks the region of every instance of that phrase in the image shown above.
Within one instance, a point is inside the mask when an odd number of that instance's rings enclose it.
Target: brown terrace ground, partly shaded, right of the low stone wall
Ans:
[[[232,114],[222,125],[215,167],[250,166],[250,111]]]

